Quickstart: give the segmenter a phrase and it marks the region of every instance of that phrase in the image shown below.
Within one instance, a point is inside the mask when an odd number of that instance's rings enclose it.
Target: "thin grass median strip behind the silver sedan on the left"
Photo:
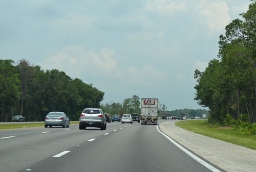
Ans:
[[[79,121],[70,121],[70,124],[78,124]],[[44,127],[45,122],[12,122],[7,124],[0,124],[0,130],[18,129],[18,128],[32,128],[32,127]]]

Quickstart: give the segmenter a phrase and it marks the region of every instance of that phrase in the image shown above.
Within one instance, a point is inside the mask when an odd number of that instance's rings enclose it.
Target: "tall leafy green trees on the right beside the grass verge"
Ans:
[[[210,110],[210,122],[233,120],[256,122],[256,3],[234,19],[220,35],[219,59],[205,71],[195,70],[199,105]]]

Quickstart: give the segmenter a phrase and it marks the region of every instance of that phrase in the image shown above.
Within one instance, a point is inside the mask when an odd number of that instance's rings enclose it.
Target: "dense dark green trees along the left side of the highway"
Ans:
[[[57,69],[42,70],[27,60],[17,65],[0,59],[0,121],[23,115],[41,121],[50,111],[63,111],[77,120],[86,107],[100,107],[104,92]]]

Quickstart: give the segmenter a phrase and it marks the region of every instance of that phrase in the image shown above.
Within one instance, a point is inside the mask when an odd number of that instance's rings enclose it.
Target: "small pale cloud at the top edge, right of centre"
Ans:
[[[162,15],[173,15],[179,11],[185,11],[186,5],[184,3],[168,3],[166,0],[153,0],[146,4],[147,11],[155,11]]]

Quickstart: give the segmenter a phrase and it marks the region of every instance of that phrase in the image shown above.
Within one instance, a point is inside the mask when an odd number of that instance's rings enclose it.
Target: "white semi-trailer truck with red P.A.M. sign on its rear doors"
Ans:
[[[157,125],[158,99],[142,98],[140,107],[140,124],[143,125],[147,123],[152,123],[154,125]]]

